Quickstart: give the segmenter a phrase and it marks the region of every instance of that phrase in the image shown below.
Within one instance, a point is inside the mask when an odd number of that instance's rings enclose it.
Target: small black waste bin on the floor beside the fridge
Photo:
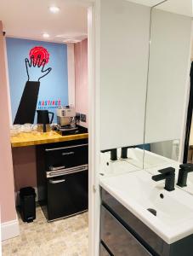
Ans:
[[[20,189],[20,215],[24,222],[32,222],[36,218],[35,189],[26,187]]]

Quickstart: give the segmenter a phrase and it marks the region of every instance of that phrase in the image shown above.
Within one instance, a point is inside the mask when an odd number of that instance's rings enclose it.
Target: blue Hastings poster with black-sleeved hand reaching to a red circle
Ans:
[[[37,110],[68,105],[66,44],[6,38],[12,120],[37,123]]]

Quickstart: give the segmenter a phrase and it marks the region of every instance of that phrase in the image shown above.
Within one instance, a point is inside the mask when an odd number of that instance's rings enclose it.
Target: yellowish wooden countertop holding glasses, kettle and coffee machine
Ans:
[[[60,143],[88,138],[88,133],[61,136],[56,131],[51,132],[21,132],[18,136],[11,137],[12,148],[27,147],[46,143]]]

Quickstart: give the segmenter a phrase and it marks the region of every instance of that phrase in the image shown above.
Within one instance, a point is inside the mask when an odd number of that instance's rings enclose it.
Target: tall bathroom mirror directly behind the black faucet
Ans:
[[[151,9],[145,109],[149,150],[144,157],[148,170],[180,161],[190,81],[191,16],[190,0],[167,0]]]

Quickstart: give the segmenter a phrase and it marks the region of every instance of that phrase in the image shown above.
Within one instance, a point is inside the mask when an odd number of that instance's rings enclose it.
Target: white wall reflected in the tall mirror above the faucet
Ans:
[[[190,74],[191,18],[153,9],[145,143],[179,139]]]

